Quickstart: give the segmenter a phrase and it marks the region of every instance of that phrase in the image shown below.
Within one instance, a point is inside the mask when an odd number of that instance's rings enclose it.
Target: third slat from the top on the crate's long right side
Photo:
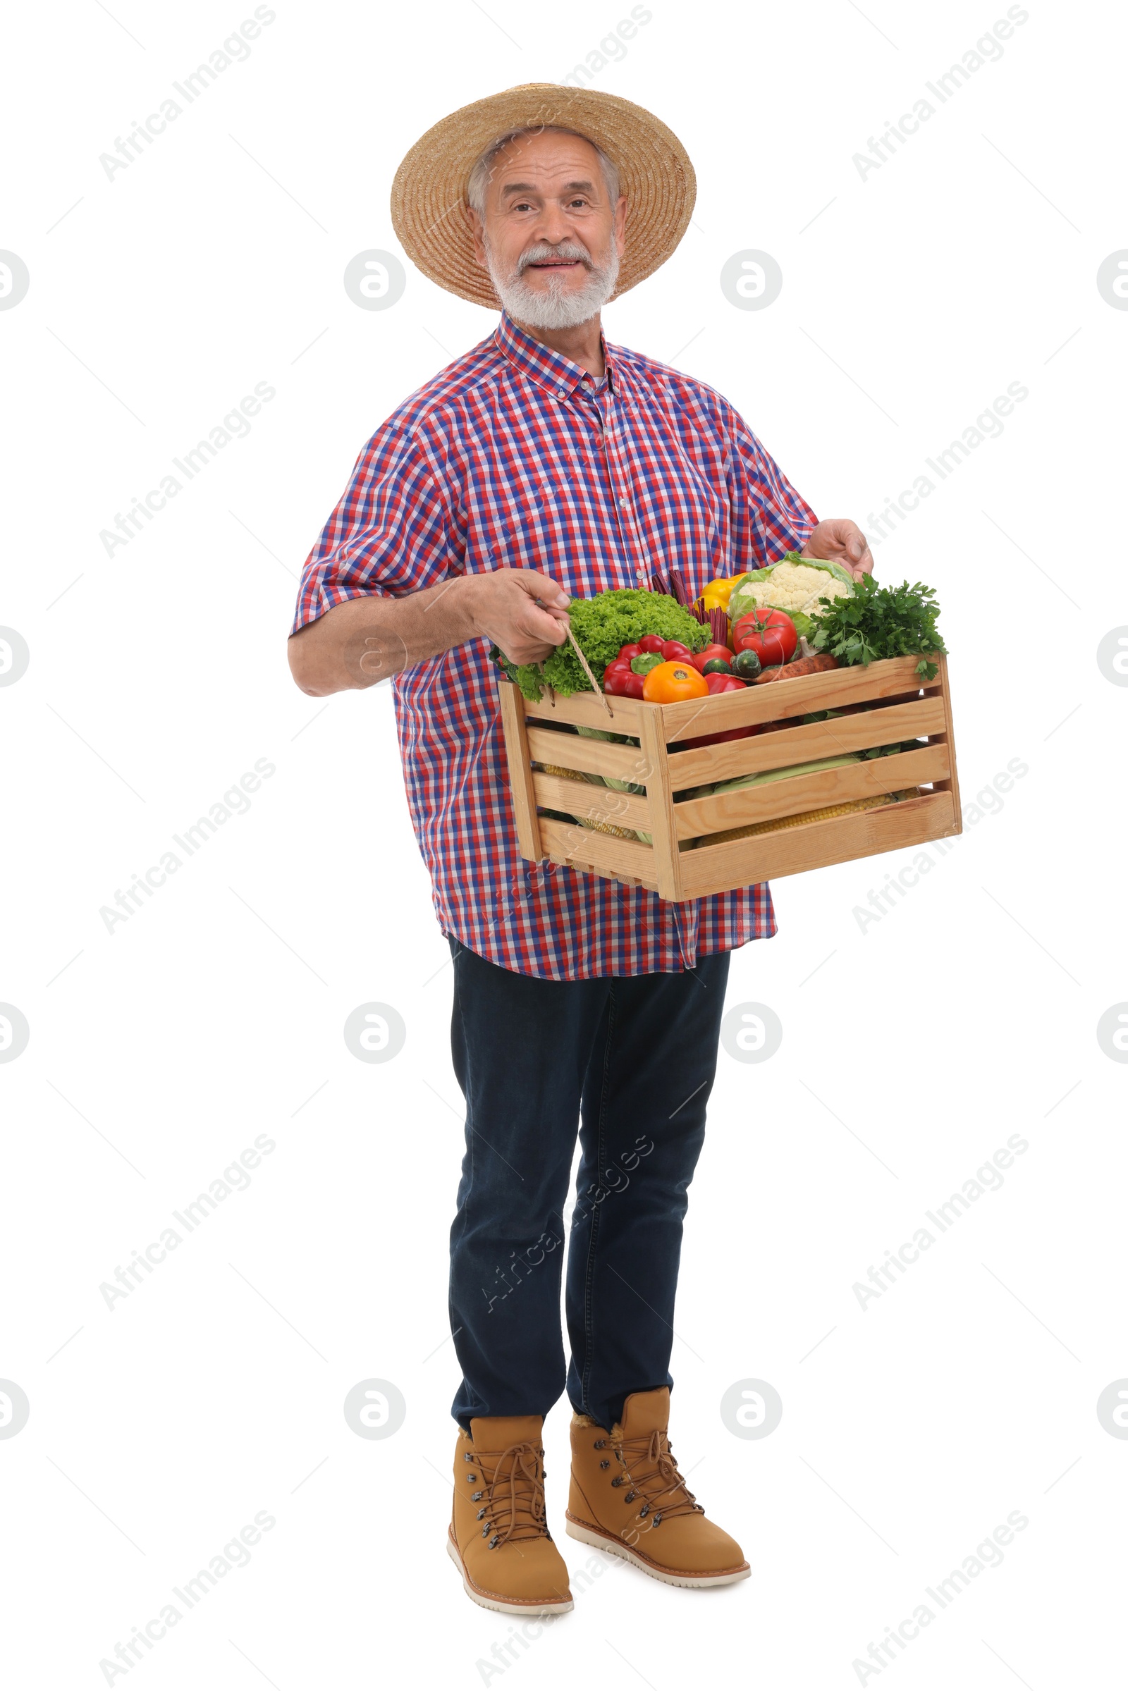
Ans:
[[[783,781],[766,781],[763,786],[746,786],[736,793],[690,798],[673,807],[676,834],[687,840],[698,834],[746,827],[751,822],[771,822],[775,817],[798,817],[803,810],[822,810],[852,798],[900,793],[905,786],[944,780],[949,769],[947,746],[940,744],[898,752],[893,758],[844,764],[841,769],[791,774]]]

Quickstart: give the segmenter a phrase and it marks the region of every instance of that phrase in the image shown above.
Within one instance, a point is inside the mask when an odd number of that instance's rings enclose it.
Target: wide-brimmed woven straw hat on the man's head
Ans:
[[[626,252],[616,298],[670,257],[693,211],[697,178],[685,147],[651,112],[619,95],[526,83],[452,112],[416,140],[392,183],[392,227],[404,252],[440,287],[499,308],[474,257],[467,183],[482,154],[514,129],[572,129],[617,166],[627,198]]]

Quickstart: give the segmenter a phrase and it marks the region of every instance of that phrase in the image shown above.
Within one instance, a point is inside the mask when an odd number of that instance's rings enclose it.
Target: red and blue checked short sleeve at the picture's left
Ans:
[[[452,563],[457,548],[435,473],[411,426],[391,418],[357,458],[306,558],[291,634],[347,599],[433,587]]]

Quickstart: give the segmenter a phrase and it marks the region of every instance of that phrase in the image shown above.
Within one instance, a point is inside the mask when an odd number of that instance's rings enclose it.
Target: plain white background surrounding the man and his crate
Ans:
[[[0,1065],[0,1375],[30,1400],[0,1441],[7,1676],[105,1684],[117,1640],[266,1510],[250,1566],[113,1684],[846,1688],[1018,1510],[1005,1562],[864,1683],[1109,1683],[1128,1442],[1096,1398],[1128,1375],[1128,1069],[1096,1021],[1128,998],[1128,692],[1096,644],[1128,624],[1128,315],[1096,271],[1128,245],[1123,15],[1032,3],[864,179],[852,156],[1005,7],[654,0],[594,76],[670,122],[700,183],[609,338],[726,392],[822,516],[868,524],[1028,387],[878,550],[879,575],[939,590],[964,800],[1011,759],[1028,773],[864,932],[854,908],[912,854],[778,883],[778,939],[734,957],[731,1004],[769,1004],[783,1047],[720,1059],[673,1442],[753,1579],[668,1590],[565,1539],[561,1402],[551,1524],[573,1571],[605,1571],[501,1667],[511,1623],[443,1554],[446,944],[387,688],[309,700],[284,641],[364,440],[496,321],[411,267],[392,309],[347,298],[357,252],[399,250],[396,164],[455,107],[567,76],[629,8],[279,3],[107,179],[100,154],[250,14],[112,10],[24,8],[3,110],[0,247],[30,271],[0,313],[0,622],[30,648],[0,692],[0,999],[30,1025]],[[768,309],[720,293],[744,249],[783,269]],[[100,531],[255,382],[276,397],[249,436],[107,556]],[[100,906],[255,759],[276,773],[250,810],[108,933]],[[404,1018],[392,1062],[345,1048],[365,1001]],[[100,1283],[262,1133],[250,1187],[110,1311]],[[1013,1133],[1028,1150],[1001,1190],[862,1311],[854,1282]],[[372,1376],[408,1404],[382,1441],[342,1414]],[[766,1439],[720,1420],[747,1378],[783,1398]]]

